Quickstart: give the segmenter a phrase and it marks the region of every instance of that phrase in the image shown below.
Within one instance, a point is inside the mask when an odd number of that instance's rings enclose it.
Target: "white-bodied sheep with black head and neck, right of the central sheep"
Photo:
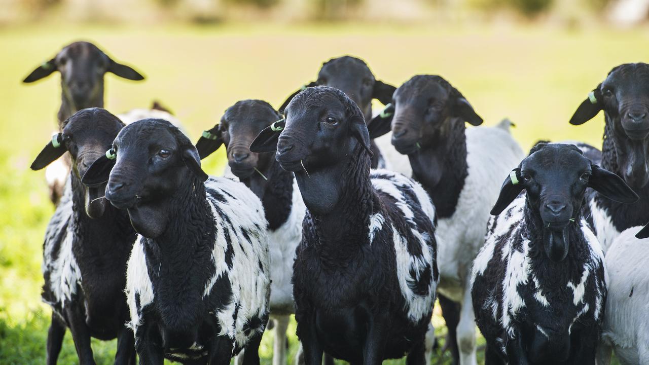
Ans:
[[[474,314],[469,293],[471,263],[484,242],[489,209],[500,177],[523,157],[509,134],[511,122],[482,124],[467,99],[443,77],[417,75],[399,86],[388,118],[368,125],[371,138],[392,131],[392,144],[408,156],[413,179],[437,209],[439,303],[454,362],[476,364]]]

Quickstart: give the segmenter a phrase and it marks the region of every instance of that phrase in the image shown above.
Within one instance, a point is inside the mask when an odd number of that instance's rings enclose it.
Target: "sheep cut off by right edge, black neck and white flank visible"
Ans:
[[[606,253],[613,239],[630,227],[649,221],[649,64],[613,68],[574,112],[570,124],[581,125],[604,110],[601,166],[620,175],[640,195],[622,205],[594,193],[586,207]]]

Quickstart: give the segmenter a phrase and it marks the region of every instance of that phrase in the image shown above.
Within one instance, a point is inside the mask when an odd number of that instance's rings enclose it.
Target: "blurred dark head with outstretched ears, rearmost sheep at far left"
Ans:
[[[95,101],[103,99],[104,73],[112,72],[130,80],[142,80],[137,71],[119,64],[108,57],[96,45],[75,42],[64,47],[54,58],[34,69],[23,82],[34,82],[59,71],[63,96],[76,110],[95,107]]]

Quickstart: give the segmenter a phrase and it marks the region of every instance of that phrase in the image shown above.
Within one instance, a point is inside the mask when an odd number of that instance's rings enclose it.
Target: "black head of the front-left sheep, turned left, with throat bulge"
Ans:
[[[106,199],[127,209],[133,228],[147,238],[164,233],[175,209],[171,202],[188,200],[208,177],[190,140],[165,120],[128,125],[113,149],[116,159],[95,161],[82,181],[105,181],[110,173]]]

